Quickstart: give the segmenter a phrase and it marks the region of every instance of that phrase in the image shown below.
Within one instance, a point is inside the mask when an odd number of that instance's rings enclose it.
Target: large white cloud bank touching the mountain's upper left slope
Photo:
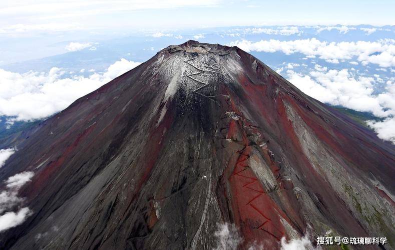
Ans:
[[[71,78],[62,78],[64,71],[57,67],[47,73],[0,69],[0,115],[15,116],[15,120],[48,117],[139,64],[122,58],[102,74]]]

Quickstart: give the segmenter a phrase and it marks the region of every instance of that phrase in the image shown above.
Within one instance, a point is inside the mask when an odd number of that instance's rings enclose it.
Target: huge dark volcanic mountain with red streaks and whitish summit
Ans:
[[[275,249],[325,233],[395,247],[394,145],[238,47],[164,48],[0,146],[17,148],[1,190],[31,176],[2,248]]]

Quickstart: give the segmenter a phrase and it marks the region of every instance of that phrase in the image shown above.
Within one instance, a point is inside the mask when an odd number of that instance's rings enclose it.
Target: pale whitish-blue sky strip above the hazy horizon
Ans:
[[[233,25],[394,24],[380,0],[3,0],[0,31],[185,28]],[[17,31],[18,32],[18,31]]]

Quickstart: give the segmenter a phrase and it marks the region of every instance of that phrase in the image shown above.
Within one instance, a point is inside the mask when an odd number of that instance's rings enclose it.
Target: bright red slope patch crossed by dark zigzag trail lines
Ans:
[[[232,209],[239,214],[235,218],[235,223],[240,227],[245,237],[245,244],[252,243],[256,238],[260,238],[265,240],[268,247],[275,247],[277,242],[286,234],[281,220],[283,219],[290,224],[292,222],[273,201],[270,195],[273,190],[266,190],[250,167],[251,156],[258,153],[262,160],[266,162],[267,166],[261,165],[260,167],[269,167],[268,170],[275,176],[277,183],[274,190],[282,188],[279,178],[281,167],[274,160],[274,154],[268,149],[266,143],[257,143],[256,149],[258,150],[254,150],[255,147],[250,144],[246,128],[252,130],[253,134],[262,133],[247,118],[243,117],[242,112],[236,108],[231,99],[227,109],[229,111],[226,111],[225,114],[229,121],[225,127],[227,128],[226,135],[221,132],[224,139],[230,140],[227,148],[230,149],[231,153],[235,149],[235,146],[232,146],[233,143],[238,144],[236,148],[240,148],[240,144],[243,146],[242,149],[236,149],[234,152],[238,155],[237,159],[230,160],[227,165],[230,171],[227,174],[227,181],[230,184],[230,192],[233,197]],[[221,131],[223,130],[221,129]],[[234,155],[234,153],[231,154]],[[248,245],[245,246],[248,248]]]

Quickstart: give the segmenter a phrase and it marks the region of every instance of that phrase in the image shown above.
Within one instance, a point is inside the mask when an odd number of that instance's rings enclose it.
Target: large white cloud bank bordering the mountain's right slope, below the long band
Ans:
[[[322,102],[341,105],[357,111],[372,112],[383,121],[369,121],[379,138],[395,143],[395,82],[388,80],[385,90],[376,94],[373,85],[383,82],[378,74],[374,77],[354,76],[347,69],[327,70],[315,65],[308,75],[286,72],[287,79],[304,93]]]

